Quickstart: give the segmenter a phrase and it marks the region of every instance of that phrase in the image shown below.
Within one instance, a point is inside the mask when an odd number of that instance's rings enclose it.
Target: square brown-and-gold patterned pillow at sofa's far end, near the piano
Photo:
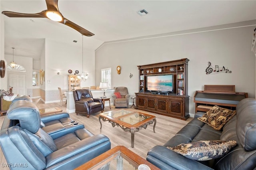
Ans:
[[[206,112],[202,117],[198,117],[199,121],[207,123],[216,130],[221,130],[221,128],[234,116],[236,111],[229,109],[224,109],[218,106],[212,107],[208,112]]]

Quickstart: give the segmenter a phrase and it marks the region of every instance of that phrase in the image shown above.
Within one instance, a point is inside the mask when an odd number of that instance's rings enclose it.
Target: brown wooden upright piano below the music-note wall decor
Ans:
[[[235,110],[244,98],[248,98],[248,93],[236,92],[235,85],[204,85],[204,91],[196,91],[194,103],[196,112],[207,112],[214,105]]]

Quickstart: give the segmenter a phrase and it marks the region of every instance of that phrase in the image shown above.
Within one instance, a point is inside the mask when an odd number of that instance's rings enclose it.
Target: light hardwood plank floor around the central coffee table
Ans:
[[[42,101],[33,100],[38,109],[46,109],[52,107],[59,107],[63,111],[66,111],[66,105],[63,103],[60,106],[60,103],[42,103]],[[111,110],[115,108],[111,106]],[[146,111],[136,110],[134,108],[128,107],[129,110],[139,111],[142,113],[149,113]],[[105,107],[104,112],[110,111],[108,106]],[[132,150],[136,154],[140,155],[142,158],[146,159],[147,152],[156,145],[163,145],[166,143],[172,136],[174,136],[182,127],[184,127],[188,122],[193,118],[189,118],[186,121],[180,119],[175,119],[163,115],[158,115],[155,113],[149,113],[156,116],[156,128],[154,133],[153,125],[149,125],[146,129],[142,128],[140,131],[135,133],[134,137],[134,148],[131,147],[131,134],[130,132],[124,132],[120,127],[112,127],[108,121],[102,122],[102,129],[100,129],[100,123],[98,119],[99,113],[90,115],[90,118],[87,118],[86,115],[76,115],[76,113],[70,113],[70,118],[77,120],[80,123],[84,124],[85,128],[88,129],[93,134],[104,134],[110,138],[111,148],[114,148],[117,145],[123,145],[126,148]],[[4,116],[0,117],[0,126],[4,120]],[[7,170],[8,168],[3,168],[2,163],[6,163],[6,160],[3,156],[2,150],[0,152],[1,170]]]

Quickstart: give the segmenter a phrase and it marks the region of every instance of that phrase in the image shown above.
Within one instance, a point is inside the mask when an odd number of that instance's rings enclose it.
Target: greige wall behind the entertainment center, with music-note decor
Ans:
[[[255,55],[251,51],[254,26],[178,34],[142,40],[110,42],[102,45],[95,55],[96,83],[100,69],[112,68],[112,87],[126,86],[130,95],[138,92],[138,67],[150,63],[188,58],[189,112],[195,112],[196,90],[204,85],[236,85],[236,91],[255,97]],[[232,73],[206,75],[208,62],[228,68]],[[122,67],[121,74],[116,66]],[[130,73],[134,75],[129,78]]]

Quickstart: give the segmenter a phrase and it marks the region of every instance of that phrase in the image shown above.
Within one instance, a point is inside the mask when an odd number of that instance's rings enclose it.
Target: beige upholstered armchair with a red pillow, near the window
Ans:
[[[130,95],[127,87],[116,87],[113,97],[113,105],[117,107],[128,107]]]

